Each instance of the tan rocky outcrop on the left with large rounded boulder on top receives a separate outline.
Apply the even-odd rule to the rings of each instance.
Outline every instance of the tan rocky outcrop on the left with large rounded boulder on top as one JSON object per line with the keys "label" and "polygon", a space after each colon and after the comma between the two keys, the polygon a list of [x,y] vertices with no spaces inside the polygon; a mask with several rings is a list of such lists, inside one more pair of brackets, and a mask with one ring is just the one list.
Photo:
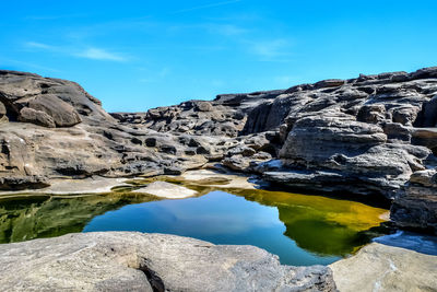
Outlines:
{"label": "tan rocky outcrop on the left with large rounded boulder on top", "polygon": [[[76,83],[0,71],[0,189],[42,188],[82,178],[180,174],[223,155],[222,138],[126,127]],[[203,108],[204,110],[205,108]]]}

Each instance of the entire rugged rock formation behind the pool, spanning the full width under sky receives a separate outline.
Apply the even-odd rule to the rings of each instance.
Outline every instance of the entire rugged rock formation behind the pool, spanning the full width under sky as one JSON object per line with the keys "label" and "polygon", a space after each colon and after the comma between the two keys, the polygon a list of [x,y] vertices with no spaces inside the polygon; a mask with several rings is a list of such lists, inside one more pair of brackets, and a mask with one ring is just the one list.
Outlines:
{"label": "entire rugged rock formation behind the pool, spanning the full width under sky", "polygon": [[437,67],[111,115],[76,83],[0,71],[0,103],[1,189],[210,162],[291,189],[380,196],[399,225],[437,232]]}

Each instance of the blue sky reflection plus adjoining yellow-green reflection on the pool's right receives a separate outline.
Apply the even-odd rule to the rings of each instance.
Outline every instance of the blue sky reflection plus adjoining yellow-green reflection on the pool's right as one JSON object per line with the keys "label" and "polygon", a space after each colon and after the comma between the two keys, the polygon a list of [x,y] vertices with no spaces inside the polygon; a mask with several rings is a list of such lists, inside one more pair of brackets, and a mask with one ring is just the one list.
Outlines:
{"label": "blue sky reflection plus adjoining yellow-green reflection on the pool's right", "polygon": [[170,233],[215,244],[250,244],[290,265],[330,264],[368,238],[383,209],[265,190],[212,191],[200,198],[127,206],[94,218],[88,231]]}

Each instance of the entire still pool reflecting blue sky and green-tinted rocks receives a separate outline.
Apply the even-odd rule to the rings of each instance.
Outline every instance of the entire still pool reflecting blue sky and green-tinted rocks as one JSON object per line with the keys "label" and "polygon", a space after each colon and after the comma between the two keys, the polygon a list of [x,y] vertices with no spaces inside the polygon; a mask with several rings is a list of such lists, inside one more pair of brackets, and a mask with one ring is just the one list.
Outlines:
{"label": "entire still pool reflecting blue sky and green-tinted rocks", "polygon": [[256,245],[279,255],[283,264],[327,265],[367,243],[363,234],[387,212],[359,202],[267,190],[153,200],[129,192],[1,200],[0,241],[81,231],[160,232]]}

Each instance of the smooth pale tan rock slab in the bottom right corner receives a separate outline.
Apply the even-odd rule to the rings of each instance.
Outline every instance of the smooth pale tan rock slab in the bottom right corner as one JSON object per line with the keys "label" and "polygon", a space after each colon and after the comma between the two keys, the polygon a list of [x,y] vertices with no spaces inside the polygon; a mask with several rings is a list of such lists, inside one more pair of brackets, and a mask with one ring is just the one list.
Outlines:
{"label": "smooth pale tan rock slab in the bottom right corner", "polygon": [[437,256],[373,243],[330,267],[340,291],[435,291]]}

